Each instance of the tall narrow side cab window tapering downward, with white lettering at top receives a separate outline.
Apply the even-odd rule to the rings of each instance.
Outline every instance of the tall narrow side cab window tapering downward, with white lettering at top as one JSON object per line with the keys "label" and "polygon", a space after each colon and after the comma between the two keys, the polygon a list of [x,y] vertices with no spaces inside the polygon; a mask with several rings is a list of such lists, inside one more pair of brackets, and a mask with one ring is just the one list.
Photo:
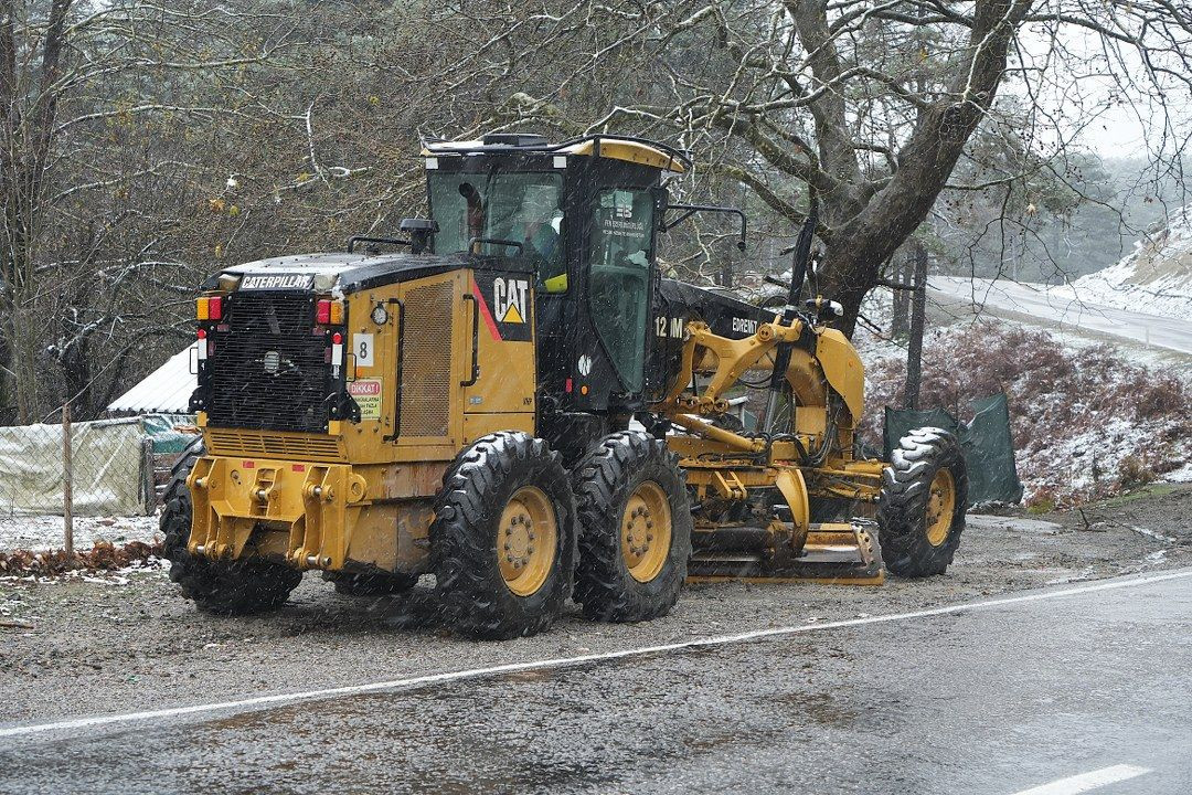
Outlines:
{"label": "tall narrow side cab window tapering downward, with white lettering at top", "polygon": [[613,188],[591,218],[589,308],[596,331],[631,392],[641,390],[654,204],[650,191]]}

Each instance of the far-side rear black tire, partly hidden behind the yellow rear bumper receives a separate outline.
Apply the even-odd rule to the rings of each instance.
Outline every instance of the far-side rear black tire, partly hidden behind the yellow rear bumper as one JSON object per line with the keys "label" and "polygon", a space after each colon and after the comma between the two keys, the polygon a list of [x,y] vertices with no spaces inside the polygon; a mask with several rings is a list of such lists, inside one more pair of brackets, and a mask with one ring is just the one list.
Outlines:
{"label": "far-side rear black tire, partly hidden behind the yellow rear bumper", "polygon": [[186,549],[191,536],[191,490],[186,478],[205,453],[203,439],[191,442],[170,472],[161,514],[169,578],[204,613],[246,615],[281,607],[302,582],[302,572],[255,558],[216,561]]}

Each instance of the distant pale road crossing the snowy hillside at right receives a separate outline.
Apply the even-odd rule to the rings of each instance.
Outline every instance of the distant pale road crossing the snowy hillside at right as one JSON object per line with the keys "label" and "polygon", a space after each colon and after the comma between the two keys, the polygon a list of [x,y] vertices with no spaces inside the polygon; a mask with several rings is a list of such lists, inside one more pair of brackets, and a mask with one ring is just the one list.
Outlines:
{"label": "distant pale road crossing the snowy hillside at right", "polygon": [[1048,325],[1074,327],[1192,354],[1192,322],[1053,296],[1042,285],[1005,279],[931,277],[930,291],[948,306],[962,303],[992,315],[1032,317]]}

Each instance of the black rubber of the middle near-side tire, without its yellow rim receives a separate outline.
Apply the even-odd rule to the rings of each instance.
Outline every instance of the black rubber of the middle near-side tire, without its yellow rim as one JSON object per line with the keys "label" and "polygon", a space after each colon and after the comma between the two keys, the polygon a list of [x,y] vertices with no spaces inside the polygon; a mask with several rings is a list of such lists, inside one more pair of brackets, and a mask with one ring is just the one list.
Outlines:
{"label": "black rubber of the middle near-side tire, without its yellow rim", "polygon": [[[635,579],[622,552],[622,521],[629,498],[653,482],[670,503],[671,544],[648,582]],[[691,504],[687,477],[666,442],[627,430],[601,440],[572,471],[579,515],[579,566],[575,598],[589,619],[647,621],[678,601],[691,557]]]}

